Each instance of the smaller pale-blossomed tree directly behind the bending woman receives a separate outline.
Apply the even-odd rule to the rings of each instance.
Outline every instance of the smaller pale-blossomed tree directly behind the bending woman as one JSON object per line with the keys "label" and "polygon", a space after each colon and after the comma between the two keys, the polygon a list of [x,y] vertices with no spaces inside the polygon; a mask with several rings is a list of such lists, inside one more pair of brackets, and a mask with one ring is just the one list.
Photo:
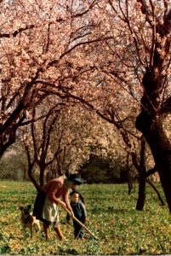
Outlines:
{"label": "smaller pale-blossomed tree directly behind the bending woman", "polygon": [[[30,111],[31,124],[19,129],[26,148],[28,176],[37,189],[43,186],[47,171],[48,177],[76,172],[88,161],[91,148],[97,143],[103,148],[95,150],[98,155],[105,157],[110,152],[114,160],[122,154],[117,138],[112,140],[116,135],[112,125],[78,104],[56,102],[54,96],[48,97],[42,102],[43,108]],[[44,117],[34,122],[40,112]]]}

